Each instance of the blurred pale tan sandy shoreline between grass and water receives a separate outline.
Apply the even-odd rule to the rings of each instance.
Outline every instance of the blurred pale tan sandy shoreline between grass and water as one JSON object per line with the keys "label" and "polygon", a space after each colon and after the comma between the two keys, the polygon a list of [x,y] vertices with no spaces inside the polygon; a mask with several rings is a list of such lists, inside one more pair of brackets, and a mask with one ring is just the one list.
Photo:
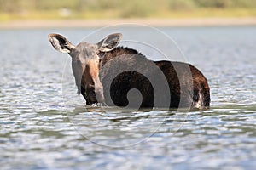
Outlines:
{"label": "blurred pale tan sandy shoreline between grass and water", "polygon": [[90,28],[119,24],[140,24],[156,27],[172,26],[253,26],[256,17],[190,18],[190,19],[111,19],[111,20],[13,20],[0,22],[0,29]]}

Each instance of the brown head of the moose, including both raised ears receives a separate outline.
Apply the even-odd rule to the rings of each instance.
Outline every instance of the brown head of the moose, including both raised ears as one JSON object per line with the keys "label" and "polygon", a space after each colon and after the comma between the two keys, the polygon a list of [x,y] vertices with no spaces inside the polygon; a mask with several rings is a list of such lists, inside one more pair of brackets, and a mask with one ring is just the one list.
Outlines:
{"label": "brown head of the moose, including both raised ears", "polygon": [[80,42],[74,46],[66,37],[60,34],[49,34],[49,42],[61,53],[67,53],[72,58],[72,69],[78,94],[84,96],[86,104],[104,102],[103,87],[100,81],[100,52],[112,51],[119,44],[122,34],[114,33],[96,44]]}

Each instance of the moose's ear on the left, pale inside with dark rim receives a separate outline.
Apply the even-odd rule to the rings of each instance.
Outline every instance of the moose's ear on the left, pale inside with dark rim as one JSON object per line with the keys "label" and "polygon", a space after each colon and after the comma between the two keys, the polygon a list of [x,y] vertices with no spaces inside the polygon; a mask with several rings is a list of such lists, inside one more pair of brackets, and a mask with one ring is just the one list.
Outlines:
{"label": "moose's ear on the left, pale inside with dark rim", "polygon": [[48,38],[51,45],[61,53],[70,53],[71,50],[75,48],[66,37],[63,37],[60,34],[49,34]]}

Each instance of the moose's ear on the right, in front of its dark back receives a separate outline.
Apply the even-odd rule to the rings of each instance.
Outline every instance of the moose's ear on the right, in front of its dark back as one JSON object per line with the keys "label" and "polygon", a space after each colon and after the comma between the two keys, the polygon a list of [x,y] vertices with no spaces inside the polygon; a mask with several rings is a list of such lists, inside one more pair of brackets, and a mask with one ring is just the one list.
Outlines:
{"label": "moose's ear on the right, in front of its dark back", "polygon": [[121,38],[122,38],[122,34],[120,34],[120,33],[110,34],[107,37],[105,37],[104,39],[102,39],[101,42],[98,42],[97,46],[100,51],[108,52],[108,51],[113,50],[113,48],[117,47]]}

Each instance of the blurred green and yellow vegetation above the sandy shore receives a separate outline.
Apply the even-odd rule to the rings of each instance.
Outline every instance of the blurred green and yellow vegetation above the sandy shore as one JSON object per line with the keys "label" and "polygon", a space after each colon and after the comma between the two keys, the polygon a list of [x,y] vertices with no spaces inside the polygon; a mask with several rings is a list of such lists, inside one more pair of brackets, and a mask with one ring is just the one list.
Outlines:
{"label": "blurred green and yellow vegetation above the sandy shore", "polygon": [[0,20],[256,16],[256,0],[0,0]]}

